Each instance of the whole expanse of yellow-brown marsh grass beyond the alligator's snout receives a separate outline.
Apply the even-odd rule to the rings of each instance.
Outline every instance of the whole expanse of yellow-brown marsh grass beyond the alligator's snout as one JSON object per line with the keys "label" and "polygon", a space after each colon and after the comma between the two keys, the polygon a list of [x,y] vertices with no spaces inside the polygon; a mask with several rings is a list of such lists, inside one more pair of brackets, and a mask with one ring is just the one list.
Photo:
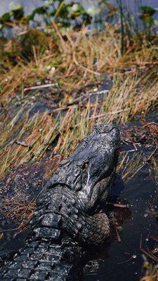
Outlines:
{"label": "whole expanse of yellow-brown marsh grass beyond the alligator's snout", "polygon": [[[122,56],[118,27],[107,24],[103,32],[88,34],[85,27],[79,32],[61,33],[55,22],[52,25],[54,32],[45,38],[34,30],[34,36],[37,32],[44,46],[29,40],[29,59],[20,55],[20,40],[8,41],[1,48],[1,65],[5,65],[0,78],[1,177],[11,167],[34,162],[47,154],[67,157],[96,123],[125,123],[157,107],[157,46],[146,42],[140,48],[135,44]],[[12,51],[14,63],[8,56]],[[107,74],[113,84],[102,102],[74,103],[72,92],[98,84]],[[45,110],[32,115],[31,100],[42,100],[43,93],[40,86],[35,92],[27,89],[37,81],[45,84],[45,79],[58,84],[58,89],[51,87],[50,91],[62,93],[60,103],[56,114]],[[14,102],[17,96],[18,106]],[[13,107],[13,115],[8,115]],[[65,114],[62,108],[67,108]]]}

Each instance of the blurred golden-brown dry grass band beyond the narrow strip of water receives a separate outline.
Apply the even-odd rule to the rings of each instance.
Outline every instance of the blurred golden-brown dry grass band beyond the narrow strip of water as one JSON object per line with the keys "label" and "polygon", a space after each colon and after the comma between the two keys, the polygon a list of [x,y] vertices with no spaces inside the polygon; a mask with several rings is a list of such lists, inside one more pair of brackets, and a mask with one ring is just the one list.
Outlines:
{"label": "blurred golden-brown dry grass band beyond the narrow strip of water", "polygon": [[[30,48],[34,58],[30,62],[17,55],[15,67],[10,66],[9,71],[1,75],[1,102],[8,103],[18,90],[40,79],[59,82],[61,90],[72,91],[96,81],[100,74],[118,75],[130,70],[136,77],[136,67],[144,74],[150,66],[153,68],[158,63],[156,46],[143,46],[137,51],[136,45],[135,52],[129,49],[122,57],[120,35],[114,27],[108,26],[100,34],[86,34],[84,28],[80,32],[60,34],[58,27],[55,28],[56,32],[47,39],[46,48],[39,49],[32,42]],[[11,52],[15,43],[6,44],[5,48]],[[55,67],[55,72],[52,67]]]}

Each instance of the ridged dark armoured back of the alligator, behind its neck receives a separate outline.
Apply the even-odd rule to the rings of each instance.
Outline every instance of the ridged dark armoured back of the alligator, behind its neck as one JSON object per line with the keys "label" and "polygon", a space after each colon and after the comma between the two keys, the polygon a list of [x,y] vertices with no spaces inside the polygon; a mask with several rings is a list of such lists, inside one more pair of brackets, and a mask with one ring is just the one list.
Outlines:
{"label": "ridged dark armoured back of the alligator, behind its neck", "polygon": [[79,263],[77,268],[76,265],[82,251],[81,247],[62,232],[62,216],[55,213],[60,200],[57,191],[59,192],[55,188],[51,210],[44,209],[42,205],[41,214],[37,204],[37,213],[29,223],[32,235],[27,240],[26,247],[15,254],[2,276],[0,273],[1,280],[79,280],[81,270],[77,270]]}

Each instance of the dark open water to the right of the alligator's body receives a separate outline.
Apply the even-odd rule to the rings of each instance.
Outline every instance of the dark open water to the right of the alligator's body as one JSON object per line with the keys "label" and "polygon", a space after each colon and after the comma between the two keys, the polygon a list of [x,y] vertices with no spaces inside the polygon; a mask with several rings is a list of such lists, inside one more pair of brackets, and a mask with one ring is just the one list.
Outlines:
{"label": "dark open water to the right of the alligator's body", "polygon": [[[117,189],[117,185],[115,186]],[[127,219],[120,234],[121,242],[115,240],[106,253],[105,260],[92,264],[84,281],[105,280],[140,280],[143,266],[143,256],[140,251],[142,236],[143,249],[154,249],[152,235],[157,235],[158,223],[147,210],[158,209],[157,185],[143,169],[133,181],[124,184],[121,196],[129,202],[131,218]],[[126,216],[126,214],[122,214]]]}

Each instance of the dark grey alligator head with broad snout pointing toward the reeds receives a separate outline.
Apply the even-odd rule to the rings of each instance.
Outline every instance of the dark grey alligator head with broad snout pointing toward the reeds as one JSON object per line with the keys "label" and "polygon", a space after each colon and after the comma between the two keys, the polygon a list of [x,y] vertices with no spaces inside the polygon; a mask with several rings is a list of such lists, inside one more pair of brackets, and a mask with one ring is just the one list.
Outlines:
{"label": "dark grey alligator head with broad snout pointing toward the reeds", "polygon": [[119,129],[100,124],[84,138],[72,155],[60,163],[53,183],[66,184],[77,192],[83,209],[105,202],[117,166]]}

